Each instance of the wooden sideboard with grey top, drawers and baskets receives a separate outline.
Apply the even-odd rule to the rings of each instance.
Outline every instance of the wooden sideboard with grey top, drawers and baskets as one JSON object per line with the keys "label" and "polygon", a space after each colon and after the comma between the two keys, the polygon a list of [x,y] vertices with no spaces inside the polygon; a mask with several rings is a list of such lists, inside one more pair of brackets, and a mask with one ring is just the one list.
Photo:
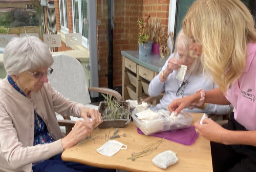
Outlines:
{"label": "wooden sideboard with grey top, drawers and baskets", "polygon": [[[123,55],[122,97],[142,101],[148,97],[148,85],[157,75],[169,56],[139,56],[139,51],[121,51]],[[157,104],[157,100],[152,102]]]}

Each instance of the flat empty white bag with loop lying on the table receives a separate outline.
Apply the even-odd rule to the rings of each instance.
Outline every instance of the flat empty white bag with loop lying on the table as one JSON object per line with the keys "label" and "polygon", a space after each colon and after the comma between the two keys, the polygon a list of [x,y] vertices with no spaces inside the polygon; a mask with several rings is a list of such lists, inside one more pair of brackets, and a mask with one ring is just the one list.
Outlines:
{"label": "flat empty white bag with loop lying on the table", "polygon": [[[122,148],[123,146],[125,146],[125,148]],[[98,148],[97,152],[99,152],[101,155],[112,157],[120,149],[127,149],[127,145],[116,140],[109,140],[105,142],[100,148]]]}

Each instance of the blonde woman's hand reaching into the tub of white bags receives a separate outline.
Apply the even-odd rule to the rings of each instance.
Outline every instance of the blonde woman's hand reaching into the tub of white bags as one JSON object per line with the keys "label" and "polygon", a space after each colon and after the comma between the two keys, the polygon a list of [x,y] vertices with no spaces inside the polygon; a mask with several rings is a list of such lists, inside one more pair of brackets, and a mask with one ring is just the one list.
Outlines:
{"label": "blonde woman's hand reaching into the tub of white bags", "polygon": [[[198,98],[199,96],[199,98]],[[197,100],[198,99],[198,100]],[[199,102],[200,93],[192,94],[187,97],[182,97],[179,99],[175,99],[168,105],[168,109],[170,112],[175,111],[174,115],[177,116],[178,113],[181,112],[182,109],[193,105],[193,103]]]}

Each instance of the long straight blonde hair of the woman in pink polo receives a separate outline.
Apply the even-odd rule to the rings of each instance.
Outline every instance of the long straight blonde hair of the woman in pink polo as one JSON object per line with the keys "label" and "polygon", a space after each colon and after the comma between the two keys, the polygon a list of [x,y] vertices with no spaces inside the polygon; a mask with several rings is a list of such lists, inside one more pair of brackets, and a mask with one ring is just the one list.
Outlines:
{"label": "long straight blonde hair of the woman in pink polo", "polygon": [[197,0],[183,20],[184,34],[202,44],[201,60],[223,93],[244,71],[254,20],[240,0]]}

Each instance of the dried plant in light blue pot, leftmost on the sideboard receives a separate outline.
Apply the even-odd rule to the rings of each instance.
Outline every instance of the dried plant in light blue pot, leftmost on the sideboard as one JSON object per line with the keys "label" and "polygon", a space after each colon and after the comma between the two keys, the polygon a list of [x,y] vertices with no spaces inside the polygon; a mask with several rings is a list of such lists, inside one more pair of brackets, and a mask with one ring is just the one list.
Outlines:
{"label": "dried plant in light blue pot, leftmost on the sideboard", "polygon": [[153,44],[151,36],[152,29],[150,24],[150,15],[144,21],[142,17],[139,16],[137,25],[139,27],[139,55],[148,56],[151,54]]}

